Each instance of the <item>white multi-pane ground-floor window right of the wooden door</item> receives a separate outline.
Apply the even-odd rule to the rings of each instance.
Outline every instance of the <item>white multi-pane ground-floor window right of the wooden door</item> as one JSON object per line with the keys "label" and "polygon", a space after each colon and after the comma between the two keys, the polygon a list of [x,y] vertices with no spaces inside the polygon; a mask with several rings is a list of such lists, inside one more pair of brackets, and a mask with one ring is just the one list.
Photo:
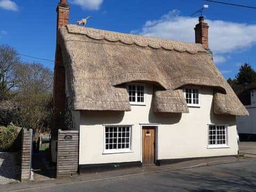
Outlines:
{"label": "white multi-pane ground-floor window right of the wooden door", "polygon": [[225,125],[209,125],[208,145],[227,145],[227,128]]}

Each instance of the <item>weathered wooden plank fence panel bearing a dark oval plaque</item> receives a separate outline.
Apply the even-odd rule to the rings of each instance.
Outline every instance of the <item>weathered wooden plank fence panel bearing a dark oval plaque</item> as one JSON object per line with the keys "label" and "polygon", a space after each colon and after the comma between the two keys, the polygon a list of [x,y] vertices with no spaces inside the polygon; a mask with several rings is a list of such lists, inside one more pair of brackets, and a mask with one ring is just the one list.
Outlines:
{"label": "weathered wooden plank fence panel bearing a dark oval plaque", "polygon": [[59,130],[57,143],[57,178],[77,174],[78,140],[78,131]]}

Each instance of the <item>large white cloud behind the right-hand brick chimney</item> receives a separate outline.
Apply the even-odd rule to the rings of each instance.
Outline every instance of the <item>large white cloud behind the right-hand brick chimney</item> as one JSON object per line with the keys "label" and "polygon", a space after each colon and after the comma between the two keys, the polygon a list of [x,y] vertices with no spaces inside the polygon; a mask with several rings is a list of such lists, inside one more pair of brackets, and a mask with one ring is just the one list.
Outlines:
{"label": "large white cloud behind the right-hand brick chimney", "polygon": [[[206,22],[210,26],[209,46],[217,54],[216,62],[228,59],[220,54],[244,51],[256,44],[256,25],[207,19]],[[147,21],[138,34],[194,42],[197,23],[197,18],[183,17],[173,10],[158,20]]]}

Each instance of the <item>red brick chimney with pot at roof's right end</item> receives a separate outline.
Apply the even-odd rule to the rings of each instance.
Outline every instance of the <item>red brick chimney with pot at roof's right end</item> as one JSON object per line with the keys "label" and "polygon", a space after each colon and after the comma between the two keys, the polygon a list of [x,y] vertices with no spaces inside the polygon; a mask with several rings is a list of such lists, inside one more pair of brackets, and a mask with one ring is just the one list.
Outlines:
{"label": "red brick chimney with pot at roof's right end", "polygon": [[196,25],[195,29],[195,37],[196,43],[201,43],[204,49],[209,50],[209,42],[208,42],[208,29],[209,26],[206,22],[204,22],[204,17],[199,17],[199,23]]}

